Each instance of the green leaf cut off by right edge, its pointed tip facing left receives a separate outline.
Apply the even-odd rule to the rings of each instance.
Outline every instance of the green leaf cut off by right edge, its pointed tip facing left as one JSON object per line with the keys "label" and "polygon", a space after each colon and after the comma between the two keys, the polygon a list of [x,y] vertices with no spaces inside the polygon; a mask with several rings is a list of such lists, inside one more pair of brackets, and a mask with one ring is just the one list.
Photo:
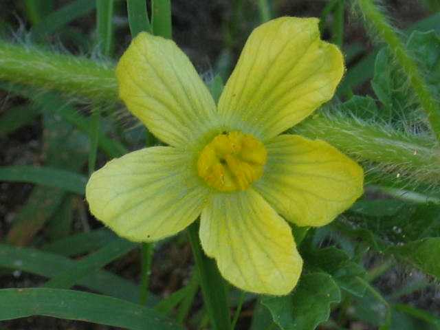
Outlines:
{"label": "green leaf cut off by right edge, its pointed tip facing left", "polygon": [[440,278],[440,237],[430,237],[395,246],[389,252],[410,265]]}

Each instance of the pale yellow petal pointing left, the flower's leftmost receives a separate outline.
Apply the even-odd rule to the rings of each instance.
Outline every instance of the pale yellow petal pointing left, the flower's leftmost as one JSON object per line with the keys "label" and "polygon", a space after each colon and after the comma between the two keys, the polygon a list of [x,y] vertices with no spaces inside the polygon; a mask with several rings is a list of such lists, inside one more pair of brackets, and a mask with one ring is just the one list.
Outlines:
{"label": "pale yellow petal pointing left, the flower's leftmost", "polygon": [[190,157],[169,146],[128,153],[91,175],[91,213],[131,241],[157,241],[186,228],[200,214],[206,192]]}

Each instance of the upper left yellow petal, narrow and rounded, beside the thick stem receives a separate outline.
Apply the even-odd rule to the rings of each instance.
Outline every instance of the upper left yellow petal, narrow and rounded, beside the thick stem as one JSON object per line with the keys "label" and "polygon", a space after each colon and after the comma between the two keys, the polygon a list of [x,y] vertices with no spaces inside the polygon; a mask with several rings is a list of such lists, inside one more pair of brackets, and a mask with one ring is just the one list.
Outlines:
{"label": "upper left yellow petal, narrow and rounded, beside the thick stem", "polygon": [[193,146],[217,120],[210,92],[173,41],[138,34],[116,76],[129,111],[171,146]]}

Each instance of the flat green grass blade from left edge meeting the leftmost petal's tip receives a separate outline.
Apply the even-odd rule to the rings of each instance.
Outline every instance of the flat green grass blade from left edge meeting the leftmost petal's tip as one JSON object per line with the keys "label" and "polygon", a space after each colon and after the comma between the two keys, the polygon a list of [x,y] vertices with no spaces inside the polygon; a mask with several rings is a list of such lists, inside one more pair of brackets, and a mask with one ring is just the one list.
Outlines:
{"label": "flat green grass blade from left edge meeting the leftmost petal's tip", "polygon": [[84,195],[87,177],[59,168],[44,166],[0,167],[0,181],[21,181]]}

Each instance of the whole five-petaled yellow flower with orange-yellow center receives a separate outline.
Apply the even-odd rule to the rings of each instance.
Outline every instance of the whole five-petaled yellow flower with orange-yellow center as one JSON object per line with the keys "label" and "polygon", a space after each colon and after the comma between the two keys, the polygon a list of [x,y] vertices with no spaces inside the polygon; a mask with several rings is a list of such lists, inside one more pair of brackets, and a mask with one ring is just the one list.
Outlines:
{"label": "whole five-petaled yellow flower with orange-yellow center", "polygon": [[252,32],[216,106],[173,41],[139,34],[116,69],[120,97],[169,146],[96,171],[86,189],[91,212],[146,242],[200,216],[202,248],[225,279],[288,294],[303,261],[285,220],[325,225],[362,194],[353,160],[321,140],[283,134],[331,99],[343,72],[318,19],[274,19]]}

